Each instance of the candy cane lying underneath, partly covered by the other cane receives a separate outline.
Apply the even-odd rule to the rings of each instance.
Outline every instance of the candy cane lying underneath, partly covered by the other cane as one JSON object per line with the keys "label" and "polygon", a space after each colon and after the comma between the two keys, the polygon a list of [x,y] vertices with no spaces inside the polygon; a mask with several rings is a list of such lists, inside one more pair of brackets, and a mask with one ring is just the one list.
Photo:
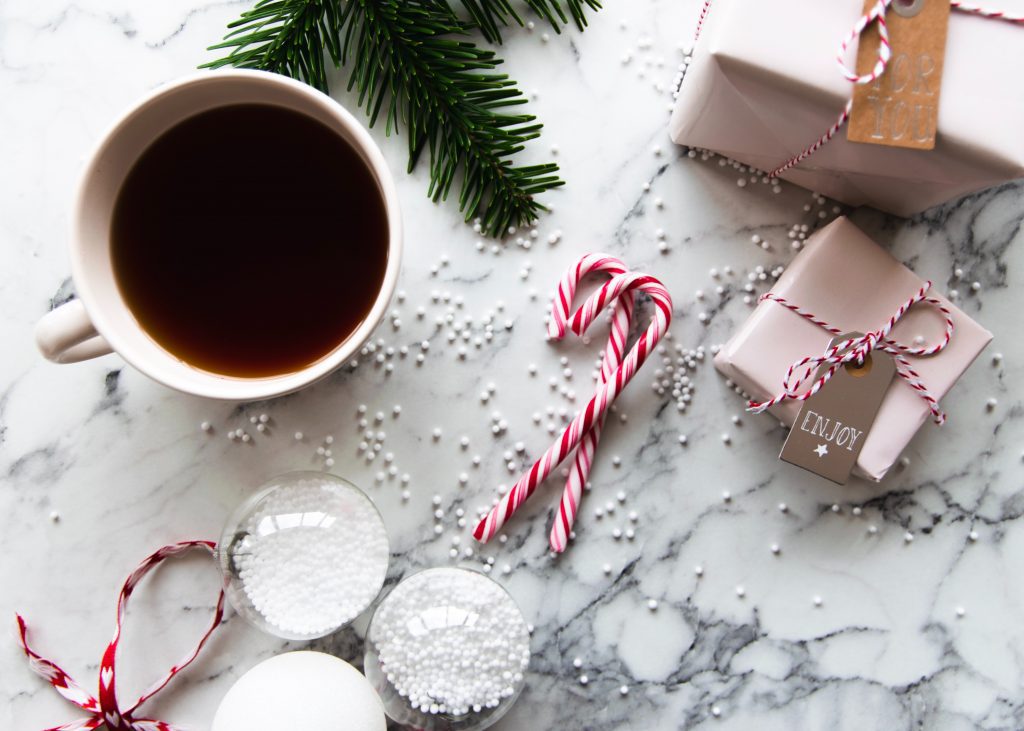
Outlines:
{"label": "candy cane lying underneath, partly covered by the other cane", "polygon": [[[594,271],[622,274],[626,270],[626,264],[621,259],[607,254],[587,254],[574,266],[569,267],[562,281],[558,283],[558,292],[555,294],[551,317],[548,320],[548,337],[559,340],[565,335],[572,297],[581,280]],[[612,305],[611,330],[604,348],[599,384],[608,380],[610,374],[618,368],[623,353],[626,352],[626,338],[629,336],[630,322],[633,318],[633,293],[629,293],[615,300]],[[583,499],[583,488],[590,475],[594,453],[601,439],[601,429],[604,427],[606,416],[602,414],[598,418],[593,428],[584,435],[577,449],[575,460],[565,481],[565,489],[562,490],[562,501],[555,515],[555,522],[551,526],[551,550],[556,553],[561,553],[568,545],[569,532],[572,530],[580,501]]]}

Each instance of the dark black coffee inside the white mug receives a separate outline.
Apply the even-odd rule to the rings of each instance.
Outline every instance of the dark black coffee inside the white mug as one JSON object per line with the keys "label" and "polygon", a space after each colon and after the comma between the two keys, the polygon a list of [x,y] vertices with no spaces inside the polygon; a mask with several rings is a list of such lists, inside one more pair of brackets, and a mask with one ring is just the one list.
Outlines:
{"label": "dark black coffee inside the white mug", "polygon": [[158,137],[118,193],[114,274],[160,346],[237,378],[301,371],[366,319],[388,258],[377,181],[298,112],[234,104]]}

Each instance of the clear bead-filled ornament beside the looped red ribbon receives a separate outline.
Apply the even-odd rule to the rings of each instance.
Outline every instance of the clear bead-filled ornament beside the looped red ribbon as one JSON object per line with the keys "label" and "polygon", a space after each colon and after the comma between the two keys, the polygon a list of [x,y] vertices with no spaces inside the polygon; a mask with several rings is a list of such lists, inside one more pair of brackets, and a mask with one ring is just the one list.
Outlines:
{"label": "clear bead-filled ornament beside the looped red ribbon", "polygon": [[377,598],[389,548],[380,513],[358,487],[292,472],[239,507],[218,557],[239,614],[278,637],[309,640],[349,624]]}

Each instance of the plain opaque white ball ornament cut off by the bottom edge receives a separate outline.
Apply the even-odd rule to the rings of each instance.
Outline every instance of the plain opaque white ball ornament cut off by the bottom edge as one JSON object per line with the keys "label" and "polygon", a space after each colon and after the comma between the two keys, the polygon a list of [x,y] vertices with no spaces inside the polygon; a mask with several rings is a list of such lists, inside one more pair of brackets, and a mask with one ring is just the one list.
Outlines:
{"label": "plain opaque white ball ornament cut off by the bottom edge", "polygon": [[242,676],[221,700],[211,731],[385,731],[373,687],[344,660],[286,652]]}

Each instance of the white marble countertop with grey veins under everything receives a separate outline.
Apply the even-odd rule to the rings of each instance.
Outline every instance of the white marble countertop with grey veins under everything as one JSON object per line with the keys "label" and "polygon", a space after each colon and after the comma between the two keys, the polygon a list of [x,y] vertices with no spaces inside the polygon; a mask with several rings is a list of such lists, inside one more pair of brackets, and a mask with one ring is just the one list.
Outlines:
{"label": "white marble countertop with grey veins under everything", "polygon": [[[477,236],[454,208],[426,199],[424,171],[402,172],[404,142],[373,131],[396,171],[408,229],[399,285],[406,298],[394,304],[401,327],[385,322],[378,337],[385,348],[429,340],[422,365],[395,354],[390,374],[364,362],[299,394],[239,405],[171,392],[116,356],[67,367],[43,361],[32,329],[73,291],[66,232],[84,155],[134,98],[208,59],[205,46],[247,5],[0,5],[0,616],[25,613],[40,651],[89,687],[117,591],[137,561],[169,542],[216,538],[230,510],[269,476],[323,467],[315,447],[328,434],[335,437],[333,470],[364,485],[384,514],[389,580],[453,563],[452,536],[469,541],[455,509],[488,504],[496,486],[515,476],[504,453],[521,441],[524,455],[516,459],[540,455],[550,440],[545,410],[555,408],[557,420],[558,408],[571,413],[589,390],[597,339],[588,347],[543,338],[547,295],[580,254],[604,250],[663,277],[676,300],[673,342],[710,349],[750,311],[738,290],[743,275],[784,265],[794,225],[813,230],[836,215],[830,203],[818,205],[788,184],[778,192],[760,184],[739,189],[731,168],[674,147],[666,133],[669,87],[697,3],[607,0],[584,34],[546,41],[540,27],[513,31],[502,51],[546,124],[530,155],[555,155],[567,181],[548,198],[555,212],[541,221],[531,250],[513,238],[497,254],[489,243],[478,252]],[[632,60],[624,63],[627,53]],[[343,92],[336,97],[351,104]],[[1017,579],[1024,573],[1024,346],[1014,336],[1021,300],[1013,294],[1024,285],[1024,186],[1005,185],[912,220],[866,210],[852,218],[940,289],[958,288],[961,306],[995,334],[944,400],[949,423],[926,425],[905,464],[882,484],[841,487],[779,463],[783,430],[771,418],[743,415],[710,362],[697,363],[684,413],[652,390],[656,365],[648,367],[620,401],[628,421],[609,421],[568,553],[552,559],[547,551],[560,490],[552,481],[508,526],[507,544],[460,559],[479,566],[494,557],[493,575],[536,626],[527,689],[497,728],[1024,727],[1024,585]],[[771,248],[754,246],[753,234]],[[735,270],[731,278],[711,278],[713,267],[726,265]],[[955,280],[957,267],[966,282]],[[967,283],[975,281],[980,289],[972,293]],[[473,317],[462,358],[446,331],[434,327],[449,306]],[[707,324],[698,321],[701,312]],[[488,314],[494,335],[486,340]],[[577,374],[570,382],[561,375],[563,355]],[[551,378],[577,391],[574,403],[549,387]],[[480,393],[492,383],[484,402]],[[986,407],[989,398],[997,399],[994,408]],[[408,502],[398,479],[377,481],[380,463],[357,453],[360,403],[386,415],[384,451],[410,475]],[[395,404],[398,418],[391,416]],[[490,430],[496,411],[509,425],[498,437]],[[225,438],[262,413],[271,419],[268,435],[253,432],[248,444]],[[200,430],[203,421],[213,434]],[[435,428],[442,430],[437,440]],[[302,441],[293,438],[297,430]],[[596,519],[592,508],[614,502],[620,490],[625,504]],[[434,494],[446,511],[440,536]],[[636,536],[616,541],[612,530],[627,526],[628,511],[639,516]],[[215,570],[199,557],[147,580],[122,648],[124,695],[190,646],[216,590]],[[364,629],[365,620],[312,647],[358,659]],[[208,728],[234,679],[296,646],[232,617],[147,709]],[[76,718],[29,672],[12,640],[0,648],[0,699],[7,729]]]}

